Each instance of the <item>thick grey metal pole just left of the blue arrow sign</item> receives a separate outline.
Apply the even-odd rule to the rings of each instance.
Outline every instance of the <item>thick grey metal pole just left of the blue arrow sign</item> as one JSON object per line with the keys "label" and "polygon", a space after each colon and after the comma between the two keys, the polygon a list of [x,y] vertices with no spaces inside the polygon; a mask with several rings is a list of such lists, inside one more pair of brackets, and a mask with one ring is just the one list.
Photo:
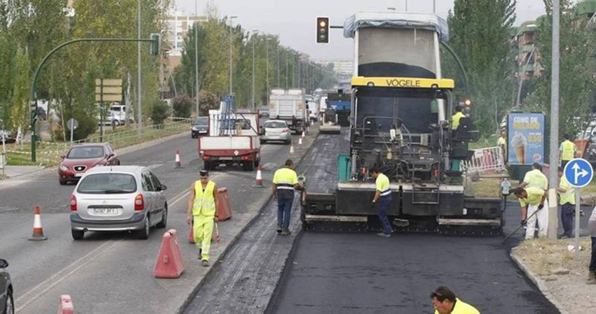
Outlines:
{"label": "thick grey metal pole just left of the blue arrow sign", "polygon": [[552,0],[552,71],[551,71],[551,141],[548,169],[548,238],[557,239],[557,165],[558,156],[558,101],[559,101],[559,20],[560,0]]}

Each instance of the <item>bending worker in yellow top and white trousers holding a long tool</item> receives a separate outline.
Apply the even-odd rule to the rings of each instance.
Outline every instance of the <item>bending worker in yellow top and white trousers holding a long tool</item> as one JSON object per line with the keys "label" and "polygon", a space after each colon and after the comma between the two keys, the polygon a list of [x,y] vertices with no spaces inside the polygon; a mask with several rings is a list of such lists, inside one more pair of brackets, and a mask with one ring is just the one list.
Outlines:
{"label": "bending worker in yellow top and white trousers holding a long tool", "polygon": [[[518,187],[511,190],[511,193],[517,196],[522,208],[527,206],[526,239],[534,238],[536,220],[538,220],[538,235],[547,236],[548,210],[542,210],[544,207],[548,209],[547,191],[538,187]],[[522,220],[522,224],[525,222]]]}

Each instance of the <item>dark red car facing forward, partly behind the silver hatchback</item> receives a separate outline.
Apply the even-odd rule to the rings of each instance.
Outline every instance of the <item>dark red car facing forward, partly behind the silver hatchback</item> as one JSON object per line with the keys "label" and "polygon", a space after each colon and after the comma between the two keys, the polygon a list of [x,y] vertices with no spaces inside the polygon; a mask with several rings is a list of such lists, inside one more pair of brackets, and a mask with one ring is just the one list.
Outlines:
{"label": "dark red car facing forward, partly behind the silver hatchback", "polygon": [[61,185],[78,181],[85,171],[95,166],[120,165],[116,151],[107,143],[77,144],[62,158],[58,166]]}

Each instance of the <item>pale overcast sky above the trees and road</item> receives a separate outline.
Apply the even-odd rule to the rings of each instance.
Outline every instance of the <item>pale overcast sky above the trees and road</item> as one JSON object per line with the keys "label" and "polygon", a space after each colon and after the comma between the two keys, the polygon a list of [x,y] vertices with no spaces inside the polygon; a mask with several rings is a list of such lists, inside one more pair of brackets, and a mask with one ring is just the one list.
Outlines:
{"label": "pale overcast sky above the trees and road", "polygon": [[[207,0],[198,1],[198,15],[203,15]],[[432,13],[433,0],[407,0],[408,11]],[[174,0],[178,11],[192,15],[195,0]],[[406,0],[212,0],[218,6],[220,16],[238,16],[247,30],[280,35],[284,45],[303,51],[311,59],[352,59],[353,41],[344,38],[341,29],[332,29],[330,44],[316,44],[316,16],[330,17],[331,25],[343,25],[343,21],[358,11],[388,11],[395,7],[405,11]],[[453,8],[453,0],[436,0],[437,14],[447,18]],[[516,25],[533,20],[544,14],[542,0],[518,0]]]}

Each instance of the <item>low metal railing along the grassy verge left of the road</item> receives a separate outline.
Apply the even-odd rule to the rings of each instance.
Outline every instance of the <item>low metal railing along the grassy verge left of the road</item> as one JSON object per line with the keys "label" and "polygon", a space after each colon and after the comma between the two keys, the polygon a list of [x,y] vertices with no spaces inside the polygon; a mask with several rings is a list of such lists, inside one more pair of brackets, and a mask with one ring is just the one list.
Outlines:
{"label": "low metal railing along the grassy verge left of the road", "polygon": [[[182,121],[173,121],[159,125],[148,125],[141,128],[141,142],[154,140],[170,136],[173,134],[190,131],[191,124],[194,119],[191,118],[174,118]],[[138,129],[133,128],[126,131],[116,131],[113,133],[104,133],[103,142],[100,141],[101,136],[91,136],[83,138],[82,140],[73,141],[73,145],[82,143],[110,143],[114,149],[130,146],[132,144],[141,143],[137,140]],[[71,144],[68,143],[52,143],[46,141],[38,142],[38,162],[41,164],[52,164],[60,161],[60,157],[66,153]],[[18,147],[18,146],[17,146]],[[28,148],[28,147],[27,147]],[[31,155],[30,150],[7,150],[7,153],[17,153],[23,155]]]}

